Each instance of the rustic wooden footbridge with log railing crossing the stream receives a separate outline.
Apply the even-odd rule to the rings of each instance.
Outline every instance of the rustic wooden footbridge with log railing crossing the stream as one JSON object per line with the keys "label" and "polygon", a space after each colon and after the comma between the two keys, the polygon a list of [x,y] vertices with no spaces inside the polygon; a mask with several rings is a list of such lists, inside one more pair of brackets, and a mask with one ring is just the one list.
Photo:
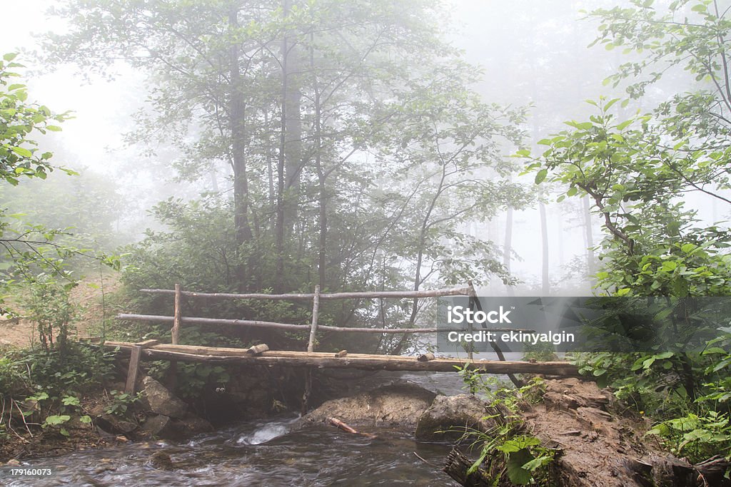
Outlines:
{"label": "rustic wooden footbridge with log railing crossing the stream", "polygon": [[[169,294],[174,296],[173,316],[120,314],[118,320],[143,321],[147,323],[171,323],[172,343],[164,344],[159,340],[144,342],[104,342],[105,348],[114,348],[130,353],[129,373],[126,389],[134,391],[140,360],[169,360],[172,362],[205,362],[217,364],[251,364],[268,367],[305,367],[312,369],[364,369],[364,370],[402,370],[456,372],[458,369],[471,369],[485,374],[518,373],[577,376],[577,367],[566,361],[507,361],[499,349],[496,353],[500,360],[474,360],[471,351],[466,358],[438,358],[432,353],[420,356],[374,355],[366,353],[349,353],[345,350],[338,353],[316,352],[315,342],[318,333],[368,333],[368,334],[423,334],[437,331],[452,331],[444,328],[357,328],[343,326],[318,325],[319,302],[327,299],[382,299],[382,298],[432,298],[438,296],[470,296],[475,297],[471,283],[463,288],[439,289],[434,291],[382,291],[321,294],[319,286],[314,294],[227,294],[197,293],[183,291],[180,285],[174,290],[142,289],[151,294]],[[278,299],[278,300],[312,300],[312,321],[308,325],[292,323],[274,323],[270,321],[232,320],[218,318],[183,317],[182,297],[192,299]],[[308,331],[306,351],[269,350],[267,345],[254,345],[251,348],[220,348],[197,345],[180,345],[180,331],[183,325],[209,324],[246,326],[253,328],[281,329],[287,331]],[[455,329],[454,331],[463,331]],[[506,330],[507,331],[507,330]]]}

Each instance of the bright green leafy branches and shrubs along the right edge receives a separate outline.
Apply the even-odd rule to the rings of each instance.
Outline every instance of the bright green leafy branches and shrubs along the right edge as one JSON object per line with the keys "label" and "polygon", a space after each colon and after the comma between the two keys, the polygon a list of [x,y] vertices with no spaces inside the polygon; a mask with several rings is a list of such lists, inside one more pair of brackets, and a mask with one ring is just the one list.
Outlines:
{"label": "bright green leafy branches and shrubs along the right edge", "polygon": [[[606,229],[599,291],[668,296],[673,306],[666,313],[676,329],[667,336],[682,345],[687,334],[708,328],[694,296],[731,295],[730,232],[717,224],[698,228],[683,201],[684,193],[695,191],[729,203],[721,190],[730,187],[724,38],[731,23],[724,18],[728,10],[719,11],[716,2],[673,1],[667,12],[652,1],[631,3],[590,13],[602,20],[597,42],[641,54],[607,83],[637,77],[628,93],[639,97],[676,66],[710,83],[627,120],[614,115],[617,99],[589,101],[597,108],[589,120],[567,122],[571,129],[540,141],[546,147],[540,156],[528,151],[518,156],[531,159],[527,167],[536,172],[536,183],[564,185],[559,199],[591,199]],[[691,13],[678,21],[687,7]],[[582,373],[611,386],[640,413],[652,412],[659,423],[651,433],[678,455],[696,461],[719,452],[731,456],[730,342],[718,323],[711,324],[713,340],[704,350],[680,353],[673,344],[657,343],[647,353],[582,354],[574,360]]]}

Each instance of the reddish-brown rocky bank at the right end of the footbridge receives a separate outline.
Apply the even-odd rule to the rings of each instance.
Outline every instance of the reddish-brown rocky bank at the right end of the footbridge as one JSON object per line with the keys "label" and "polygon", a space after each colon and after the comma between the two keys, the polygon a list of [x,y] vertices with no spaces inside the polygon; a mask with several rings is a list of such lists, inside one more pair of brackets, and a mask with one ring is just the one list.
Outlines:
{"label": "reddish-brown rocky bank at the right end of the footbridge", "polygon": [[[692,466],[644,436],[647,424],[618,414],[609,391],[575,378],[546,380],[545,401],[523,415],[544,445],[560,448],[551,464],[556,485],[629,487],[694,485]],[[582,434],[566,436],[566,432]],[[719,485],[708,483],[711,485]]]}

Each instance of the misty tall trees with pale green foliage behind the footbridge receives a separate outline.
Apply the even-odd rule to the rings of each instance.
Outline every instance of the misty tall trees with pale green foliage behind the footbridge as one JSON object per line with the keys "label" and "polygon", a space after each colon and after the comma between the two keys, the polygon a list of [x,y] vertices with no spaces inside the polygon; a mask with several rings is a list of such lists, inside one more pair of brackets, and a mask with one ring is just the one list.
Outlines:
{"label": "misty tall trees with pale green foliage behind the footbridge", "polygon": [[[511,280],[499,250],[465,223],[529,200],[500,149],[522,137],[525,111],[471,91],[479,70],[444,41],[439,5],[92,0],[62,1],[55,12],[72,22],[48,37],[50,63],[108,74],[108,61],[124,58],[149,74],[151,110],[140,111],[130,140],[155,144],[164,134],[182,154],[183,180],[232,174],[232,193],[157,205],[164,229],[129,249],[130,287],[311,292]],[[245,47],[274,38],[292,49]],[[322,322],[413,325],[422,310],[359,305],[324,304]],[[273,308],[229,311],[306,321],[300,307]],[[338,340],[320,345],[348,348]],[[404,345],[389,336],[360,346]]]}

